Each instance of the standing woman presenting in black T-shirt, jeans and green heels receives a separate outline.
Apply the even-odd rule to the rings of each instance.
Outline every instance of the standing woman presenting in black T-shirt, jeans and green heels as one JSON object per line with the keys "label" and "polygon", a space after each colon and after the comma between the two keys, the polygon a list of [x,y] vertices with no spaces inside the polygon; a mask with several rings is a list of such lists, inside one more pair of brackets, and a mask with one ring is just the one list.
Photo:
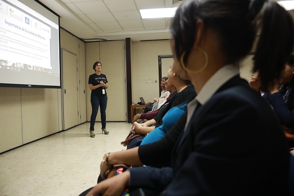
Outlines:
{"label": "standing woman presenting in black T-shirt, jeans and green heels", "polygon": [[102,65],[99,61],[95,62],[93,65],[93,70],[95,73],[89,76],[89,87],[91,92],[91,105],[92,105],[92,115],[90,123],[90,137],[95,138],[94,125],[96,116],[98,113],[98,108],[100,105],[101,114],[101,124],[102,133],[108,135],[109,131],[106,130],[106,106],[107,106],[107,94],[106,89],[108,88],[108,81],[105,74],[101,73]]}

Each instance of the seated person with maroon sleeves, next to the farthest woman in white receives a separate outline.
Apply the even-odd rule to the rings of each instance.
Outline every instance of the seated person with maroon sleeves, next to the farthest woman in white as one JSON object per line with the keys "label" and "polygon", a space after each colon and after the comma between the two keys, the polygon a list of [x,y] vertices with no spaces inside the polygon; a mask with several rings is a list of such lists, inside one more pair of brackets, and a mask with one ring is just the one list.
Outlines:
{"label": "seated person with maroon sleeves, next to the farthest woman in white", "polygon": [[[173,86],[171,83],[168,83],[168,80],[166,81],[166,90],[170,91],[170,95],[169,97],[166,99],[166,101],[164,103],[168,103],[170,101],[170,99],[176,95],[176,88],[175,86]],[[157,114],[158,114],[158,110],[159,108],[157,108],[156,110],[147,112],[147,113],[142,113],[142,114],[136,114],[133,117],[133,122],[136,122],[138,119],[146,119],[146,120],[151,120],[153,119]]]}

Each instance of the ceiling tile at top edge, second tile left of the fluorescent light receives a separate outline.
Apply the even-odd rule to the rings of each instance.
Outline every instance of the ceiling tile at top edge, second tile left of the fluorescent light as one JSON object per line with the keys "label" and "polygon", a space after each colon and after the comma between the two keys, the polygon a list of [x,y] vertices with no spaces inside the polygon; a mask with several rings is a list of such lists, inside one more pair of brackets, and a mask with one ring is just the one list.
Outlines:
{"label": "ceiling tile at top edge, second tile left of the fluorescent light", "polygon": [[88,1],[74,3],[84,14],[109,12],[103,1]]}

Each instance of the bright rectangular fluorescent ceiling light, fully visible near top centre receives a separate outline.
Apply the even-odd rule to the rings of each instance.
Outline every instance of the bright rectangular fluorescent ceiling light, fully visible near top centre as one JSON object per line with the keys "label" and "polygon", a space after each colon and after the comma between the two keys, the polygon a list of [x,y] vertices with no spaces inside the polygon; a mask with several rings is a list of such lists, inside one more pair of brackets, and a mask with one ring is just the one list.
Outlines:
{"label": "bright rectangular fluorescent ceiling light, fully visible near top centre", "polygon": [[142,19],[172,18],[177,7],[159,9],[140,9]]}

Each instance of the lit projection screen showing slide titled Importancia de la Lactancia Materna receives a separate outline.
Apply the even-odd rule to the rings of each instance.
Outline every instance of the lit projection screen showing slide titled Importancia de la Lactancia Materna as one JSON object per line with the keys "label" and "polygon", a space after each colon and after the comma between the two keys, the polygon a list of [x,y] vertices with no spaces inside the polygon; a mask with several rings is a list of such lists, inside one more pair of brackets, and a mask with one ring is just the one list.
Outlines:
{"label": "lit projection screen showing slide titled Importancia de la Lactancia Materna", "polygon": [[60,87],[59,56],[58,23],[17,0],[0,0],[1,84]]}

